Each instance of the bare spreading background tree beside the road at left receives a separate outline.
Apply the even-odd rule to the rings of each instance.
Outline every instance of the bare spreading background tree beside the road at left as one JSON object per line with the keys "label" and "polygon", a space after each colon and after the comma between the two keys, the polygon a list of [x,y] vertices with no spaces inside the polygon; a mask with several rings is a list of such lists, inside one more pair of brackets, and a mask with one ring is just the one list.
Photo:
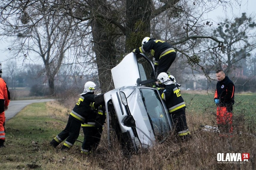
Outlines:
{"label": "bare spreading background tree beside the road at left", "polygon": [[[50,94],[54,94],[54,78],[71,48],[79,45],[80,37],[72,30],[75,24],[69,15],[54,3],[43,1],[4,1],[2,7],[2,35],[16,36],[9,49],[14,49],[15,57],[23,57],[25,62],[33,52],[44,63],[46,80]],[[9,2],[9,3],[8,3]],[[55,2],[55,1],[53,1]],[[56,4],[56,5],[61,5]],[[7,13],[5,11],[8,11]],[[3,19],[3,17],[5,17]],[[75,29],[77,31],[78,29]],[[80,30],[78,30],[80,31]],[[83,49],[83,48],[82,48]],[[71,57],[67,57],[69,59]],[[33,59],[33,60],[39,60]]]}

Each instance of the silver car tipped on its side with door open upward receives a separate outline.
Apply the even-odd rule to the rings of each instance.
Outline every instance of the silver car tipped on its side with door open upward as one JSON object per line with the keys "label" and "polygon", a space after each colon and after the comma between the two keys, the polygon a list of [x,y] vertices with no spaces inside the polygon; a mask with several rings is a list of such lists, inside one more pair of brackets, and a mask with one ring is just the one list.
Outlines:
{"label": "silver car tipped on its side with door open upward", "polygon": [[156,140],[163,142],[172,130],[172,118],[159,91],[152,88],[157,78],[151,60],[130,53],[111,74],[115,89],[104,94],[109,146],[113,130],[129,151],[147,150]]}

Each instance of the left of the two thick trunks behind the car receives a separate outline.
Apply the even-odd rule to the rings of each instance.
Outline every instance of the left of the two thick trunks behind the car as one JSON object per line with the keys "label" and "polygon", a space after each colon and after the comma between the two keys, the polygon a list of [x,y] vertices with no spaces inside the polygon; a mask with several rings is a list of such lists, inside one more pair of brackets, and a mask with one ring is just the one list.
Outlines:
{"label": "left of the two thick trunks behind the car", "polygon": [[[107,14],[104,11],[105,2],[105,0],[92,1],[91,4],[93,4],[93,14]],[[111,76],[111,69],[115,66],[115,48],[111,33],[116,28],[114,28],[113,25],[108,24],[109,23],[107,21],[99,18],[94,18],[91,22],[93,34],[93,50],[96,54],[96,64],[98,67],[99,83],[102,93],[114,88]]]}

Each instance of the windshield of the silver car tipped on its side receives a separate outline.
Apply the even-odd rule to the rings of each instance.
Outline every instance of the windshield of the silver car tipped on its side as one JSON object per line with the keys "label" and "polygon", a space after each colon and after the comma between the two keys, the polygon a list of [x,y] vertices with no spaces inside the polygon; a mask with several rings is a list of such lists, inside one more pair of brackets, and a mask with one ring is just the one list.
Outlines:
{"label": "windshield of the silver car tipped on its side", "polygon": [[170,127],[159,94],[156,89],[147,88],[141,88],[140,92],[154,135],[162,141],[169,134]]}

